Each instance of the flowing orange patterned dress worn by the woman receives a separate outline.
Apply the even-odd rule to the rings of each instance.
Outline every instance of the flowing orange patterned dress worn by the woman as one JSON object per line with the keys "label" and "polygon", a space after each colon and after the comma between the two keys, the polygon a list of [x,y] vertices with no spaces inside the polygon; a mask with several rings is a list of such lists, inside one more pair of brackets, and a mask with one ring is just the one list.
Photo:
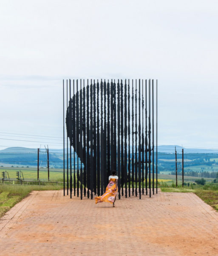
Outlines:
{"label": "flowing orange patterned dress worn by the woman", "polygon": [[113,204],[113,202],[115,201],[117,190],[118,189],[116,189],[116,179],[111,178],[106,188],[105,194],[97,196],[95,198],[95,203],[97,204],[101,202],[108,202],[110,204]]}

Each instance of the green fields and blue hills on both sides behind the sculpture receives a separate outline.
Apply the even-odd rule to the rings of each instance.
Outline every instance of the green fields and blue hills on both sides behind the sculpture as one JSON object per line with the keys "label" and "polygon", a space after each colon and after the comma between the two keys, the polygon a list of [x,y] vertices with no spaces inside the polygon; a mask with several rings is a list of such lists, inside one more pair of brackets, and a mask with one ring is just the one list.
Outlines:
{"label": "green fields and blue hills on both sides behind the sculpture", "polygon": [[[167,153],[163,151],[167,151]],[[52,151],[48,183],[48,169],[44,153],[41,152],[40,155],[39,180],[37,180],[36,149],[6,148],[0,151],[0,172],[2,175],[0,180],[0,216],[4,215],[8,209],[26,197],[32,190],[62,189],[62,161],[61,152]],[[193,153],[191,150],[187,150],[187,153],[184,154],[184,187],[182,187],[181,162],[181,153],[178,153],[178,186],[176,187],[176,160],[173,148],[170,146],[160,148],[158,153],[158,187],[163,192],[193,192],[218,210],[218,153],[202,153],[201,150],[200,152],[195,150]],[[154,166],[154,171],[156,171],[156,163]],[[75,167],[77,169],[77,159]],[[3,179],[3,172],[6,175],[5,179]],[[19,172],[19,179],[17,172]],[[74,169],[72,169],[72,173],[74,173]],[[68,174],[70,178],[69,167]],[[156,173],[154,175],[156,177]],[[67,163],[65,163],[66,181]]]}

